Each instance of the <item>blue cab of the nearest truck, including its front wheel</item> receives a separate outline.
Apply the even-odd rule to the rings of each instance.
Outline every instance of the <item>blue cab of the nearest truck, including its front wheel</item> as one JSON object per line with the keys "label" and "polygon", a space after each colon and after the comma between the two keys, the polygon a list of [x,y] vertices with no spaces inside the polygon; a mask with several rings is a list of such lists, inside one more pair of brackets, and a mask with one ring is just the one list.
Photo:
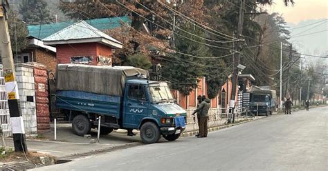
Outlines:
{"label": "blue cab of the nearest truck, including its front wheel", "polygon": [[173,141],[185,129],[187,114],[165,82],[128,80],[123,101],[122,128],[140,130],[143,141],[158,141],[158,133]]}

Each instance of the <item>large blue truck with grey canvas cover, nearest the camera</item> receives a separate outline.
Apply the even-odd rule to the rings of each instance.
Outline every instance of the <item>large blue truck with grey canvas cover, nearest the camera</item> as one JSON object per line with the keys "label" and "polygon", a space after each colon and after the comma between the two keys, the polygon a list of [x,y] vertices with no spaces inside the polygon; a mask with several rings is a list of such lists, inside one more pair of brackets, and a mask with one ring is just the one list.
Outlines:
{"label": "large blue truck with grey canvas cover, nearest the camera", "polygon": [[56,108],[69,116],[73,132],[80,136],[98,128],[140,130],[143,143],[161,137],[178,139],[187,114],[167,83],[150,81],[147,71],[124,66],[60,64],[56,72]]}

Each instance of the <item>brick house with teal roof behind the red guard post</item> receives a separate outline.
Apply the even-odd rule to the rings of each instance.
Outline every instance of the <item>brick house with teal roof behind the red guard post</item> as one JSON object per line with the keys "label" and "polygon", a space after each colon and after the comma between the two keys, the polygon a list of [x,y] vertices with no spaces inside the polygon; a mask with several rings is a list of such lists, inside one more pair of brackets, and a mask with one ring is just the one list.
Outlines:
{"label": "brick house with teal roof behind the red guard post", "polygon": [[[129,17],[111,17],[103,19],[91,19],[86,20],[90,26],[104,31],[111,30],[114,28],[120,28],[123,23],[131,25],[131,19]],[[30,25],[28,26],[28,46],[26,49],[19,52],[17,55],[14,54],[15,63],[28,63],[37,62],[43,63],[48,70],[55,71],[57,65],[56,53],[57,48],[54,46],[45,45],[42,39],[71,26],[75,22],[59,22],[49,23],[41,25]]]}

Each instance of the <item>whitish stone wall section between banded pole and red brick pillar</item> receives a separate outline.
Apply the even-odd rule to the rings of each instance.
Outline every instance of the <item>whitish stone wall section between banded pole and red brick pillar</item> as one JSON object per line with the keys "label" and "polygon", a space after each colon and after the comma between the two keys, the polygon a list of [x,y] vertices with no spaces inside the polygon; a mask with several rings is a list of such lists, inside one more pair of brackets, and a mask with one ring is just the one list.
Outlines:
{"label": "whitish stone wall section between banded pole and red brick pillar", "polygon": [[33,66],[16,64],[16,77],[19,90],[19,105],[24,120],[26,137],[37,136],[37,116],[35,104],[35,81]]}

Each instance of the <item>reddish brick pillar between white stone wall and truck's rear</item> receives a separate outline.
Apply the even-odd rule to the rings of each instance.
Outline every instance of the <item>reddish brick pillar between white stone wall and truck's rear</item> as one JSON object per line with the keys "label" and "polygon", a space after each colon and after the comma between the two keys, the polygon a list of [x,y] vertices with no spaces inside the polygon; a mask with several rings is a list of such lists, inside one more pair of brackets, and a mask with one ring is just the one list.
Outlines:
{"label": "reddish brick pillar between white stone wall and truck's rear", "polygon": [[37,130],[50,130],[50,112],[48,105],[48,74],[44,66],[34,67],[35,99],[37,102]]}

